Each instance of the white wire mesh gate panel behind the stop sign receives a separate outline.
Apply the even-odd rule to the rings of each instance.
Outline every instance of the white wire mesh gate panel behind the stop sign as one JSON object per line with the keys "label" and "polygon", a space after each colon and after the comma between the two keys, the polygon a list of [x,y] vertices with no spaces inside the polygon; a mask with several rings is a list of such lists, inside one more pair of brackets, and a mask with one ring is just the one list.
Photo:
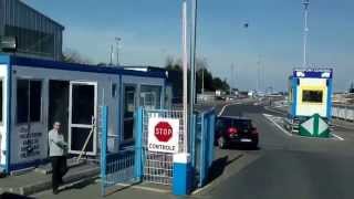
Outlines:
{"label": "white wire mesh gate panel behind the stop sign", "polygon": [[178,153],[184,153],[184,119],[183,111],[166,109],[143,109],[143,180],[171,185],[173,181],[173,154],[149,151],[147,149],[148,119],[152,117],[159,118],[178,118],[179,119],[179,148]]}

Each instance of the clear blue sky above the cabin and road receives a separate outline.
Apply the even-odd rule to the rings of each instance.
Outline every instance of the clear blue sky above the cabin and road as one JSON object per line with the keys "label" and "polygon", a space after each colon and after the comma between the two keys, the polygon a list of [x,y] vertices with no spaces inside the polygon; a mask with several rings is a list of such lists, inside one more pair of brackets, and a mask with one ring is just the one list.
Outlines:
{"label": "clear blue sky above the cabin and road", "polygon": [[[108,62],[110,45],[122,38],[123,64],[164,66],[180,57],[181,0],[24,0],[65,27],[64,49],[93,62]],[[334,4],[335,3],[335,4]],[[301,0],[199,0],[198,56],[209,70],[243,90],[287,88],[302,64]],[[309,63],[334,69],[334,87],[354,80],[354,1],[311,0]],[[244,29],[242,24],[249,23]]]}

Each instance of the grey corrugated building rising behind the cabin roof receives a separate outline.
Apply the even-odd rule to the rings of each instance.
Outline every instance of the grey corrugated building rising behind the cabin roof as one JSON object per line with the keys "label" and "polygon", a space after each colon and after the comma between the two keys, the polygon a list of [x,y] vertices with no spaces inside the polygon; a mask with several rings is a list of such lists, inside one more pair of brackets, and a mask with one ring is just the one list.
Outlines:
{"label": "grey corrugated building rising behind the cabin roof", "polygon": [[62,60],[64,27],[20,0],[0,0],[0,38],[17,39],[17,54]]}

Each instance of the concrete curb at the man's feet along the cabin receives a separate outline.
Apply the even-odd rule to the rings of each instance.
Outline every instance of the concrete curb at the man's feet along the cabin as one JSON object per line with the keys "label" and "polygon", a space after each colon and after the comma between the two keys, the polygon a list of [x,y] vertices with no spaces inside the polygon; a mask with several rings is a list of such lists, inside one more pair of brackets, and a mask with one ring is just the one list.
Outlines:
{"label": "concrete curb at the man's feet along the cabin", "polygon": [[[94,176],[97,176],[100,174],[100,168],[91,168],[91,169],[85,169],[80,172],[72,174],[70,176],[64,177],[63,181],[65,184],[72,184],[74,181],[83,180],[83,179],[91,179]],[[10,190],[11,192],[18,192],[20,195],[29,196],[33,195],[37,192],[41,192],[48,189],[52,188],[52,180],[43,180],[33,185],[24,186],[18,188],[18,190],[13,189]]]}

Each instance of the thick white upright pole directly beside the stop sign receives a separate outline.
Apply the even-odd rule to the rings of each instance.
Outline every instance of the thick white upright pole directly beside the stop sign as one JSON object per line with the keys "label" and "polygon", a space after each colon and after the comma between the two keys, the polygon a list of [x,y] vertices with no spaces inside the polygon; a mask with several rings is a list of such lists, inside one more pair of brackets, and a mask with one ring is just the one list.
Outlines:
{"label": "thick white upright pole directly beside the stop sign", "polygon": [[[181,45],[183,45],[183,69],[184,69],[184,153],[188,153],[188,85],[187,85],[187,72],[188,72],[188,53],[187,53],[187,0],[183,1],[183,32],[181,32]],[[192,112],[192,111],[191,111]]]}

